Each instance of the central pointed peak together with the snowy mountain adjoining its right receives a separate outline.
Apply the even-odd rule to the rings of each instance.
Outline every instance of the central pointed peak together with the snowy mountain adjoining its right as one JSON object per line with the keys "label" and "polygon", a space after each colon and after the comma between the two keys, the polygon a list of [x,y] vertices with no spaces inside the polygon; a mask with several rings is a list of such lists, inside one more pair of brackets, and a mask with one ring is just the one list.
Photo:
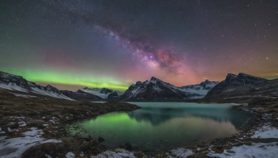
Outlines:
{"label": "central pointed peak together with the snowy mountain adjoining its right", "polygon": [[183,87],[175,87],[167,82],[163,82],[158,78],[152,77],[151,80],[145,82],[136,82],[129,89],[124,91],[120,97],[123,101],[163,101],[163,100],[189,100],[195,98],[203,98],[206,93],[219,82],[204,81],[199,85],[188,85]]}

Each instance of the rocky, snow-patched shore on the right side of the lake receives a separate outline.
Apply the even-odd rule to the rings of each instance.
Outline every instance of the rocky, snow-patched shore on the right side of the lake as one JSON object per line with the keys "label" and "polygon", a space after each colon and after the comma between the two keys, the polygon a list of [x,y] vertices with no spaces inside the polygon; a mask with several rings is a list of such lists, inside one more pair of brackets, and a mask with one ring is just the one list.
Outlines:
{"label": "rocky, snow-patched shore on the right side of the lake", "polygon": [[[227,103],[225,100],[218,101]],[[172,149],[156,157],[276,157],[278,155],[278,99],[256,98],[248,102],[239,100],[233,107],[254,114],[240,128],[239,134],[203,142],[197,146]]]}

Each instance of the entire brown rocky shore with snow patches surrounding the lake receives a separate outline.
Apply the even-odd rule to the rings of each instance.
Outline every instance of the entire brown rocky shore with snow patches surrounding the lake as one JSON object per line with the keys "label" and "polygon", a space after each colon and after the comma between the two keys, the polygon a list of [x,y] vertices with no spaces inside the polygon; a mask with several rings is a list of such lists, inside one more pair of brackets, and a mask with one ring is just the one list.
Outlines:
{"label": "entire brown rocky shore with snow patches surrounding the lake", "polygon": [[[0,157],[237,157],[243,154],[272,157],[278,154],[277,107],[276,98],[251,99],[247,104],[239,100],[233,108],[254,114],[241,127],[239,134],[156,153],[134,151],[129,144],[109,148],[101,145],[105,141],[101,137],[70,137],[65,131],[69,123],[107,112],[140,108],[136,105],[81,103],[1,90]],[[258,152],[252,153],[251,150]]]}

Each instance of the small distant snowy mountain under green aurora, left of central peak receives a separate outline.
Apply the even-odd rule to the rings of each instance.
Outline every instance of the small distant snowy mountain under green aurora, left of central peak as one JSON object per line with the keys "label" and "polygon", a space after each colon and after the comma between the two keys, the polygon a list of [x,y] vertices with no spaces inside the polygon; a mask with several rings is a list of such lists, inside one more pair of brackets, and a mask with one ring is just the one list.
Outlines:
{"label": "small distant snowy mountain under green aurora, left of central peak", "polygon": [[114,98],[117,98],[122,95],[122,92],[115,91],[113,89],[107,89],[107,88],[88,88],[85,87],[83,89],[79,89],[80,91],[84,91],[88,94],[93,94],[95,96],[99,96],[100,98],[106,100],[113,100]]}

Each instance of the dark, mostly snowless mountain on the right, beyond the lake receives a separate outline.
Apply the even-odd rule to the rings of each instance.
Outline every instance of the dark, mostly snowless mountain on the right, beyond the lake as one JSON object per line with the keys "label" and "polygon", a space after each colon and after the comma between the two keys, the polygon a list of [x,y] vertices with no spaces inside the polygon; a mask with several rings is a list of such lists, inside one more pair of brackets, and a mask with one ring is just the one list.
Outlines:
{"label": "dark, mostly snowless mountain on the right, beyond the lake", "polygon": [[208,91],[205,98],[215,98],[222,94],[231,94],[239,87],[247,87],[248,85],[256,85],[266,81],[264,78],[250,76],[245,73],[238,73],[238,76],[228,73],[226,79]]}

